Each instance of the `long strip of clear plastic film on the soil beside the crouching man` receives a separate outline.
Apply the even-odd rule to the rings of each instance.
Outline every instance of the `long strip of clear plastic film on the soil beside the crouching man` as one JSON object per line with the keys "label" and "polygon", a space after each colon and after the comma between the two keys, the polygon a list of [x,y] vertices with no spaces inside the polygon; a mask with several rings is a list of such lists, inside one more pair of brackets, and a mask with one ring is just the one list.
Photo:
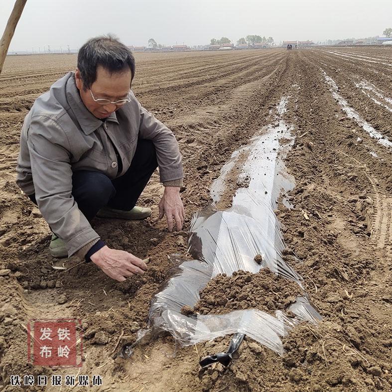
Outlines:
{"label": "long strip of clear plastic film on the soil beside the crouching man", "polygon": [[[301,277],[282,259],[284,244],[273,212],[279,193],[293,187],[283,163],[292,144],[290,128],[281,119],[286,104],[287,99],[283,98],[277,106],[276,125],[267,127],[249,146],[243,173],[249,175],[250,182],[247,188],[236,192],[232,207],[217,211],[211,204],[194,215],[188,252],[195,260],[185,261],[173,269],[171,277],[155,294],[148,316],[150,329],[144,333],[154,337],[167,331],[183,346],[227,334],[235,334],[240,344],[242,339],[238,337],[245,334],[282,355],[280,338],[292,326],[321,318],[306,294],[289,307],[294,318],[286,317],[281,311],[272,316],[257,309],[224,315],[185,316],[181,313],[184,305],[194,307],[200,290],[219,273],[232,275],[239,269],[256,273],[267,267],[302,288]],[[234,164],[238,155],[233,154],[229,165]],[[227,175],[228,171],[224,167],[221,175]],[[220,183],[223,182],[217,182]],[[220,193],[221,190],[216,189],[215,194]],[[261,264],[254,260],[258,254],[262,256]],[[129,353],[129,347],[127,350]]]}

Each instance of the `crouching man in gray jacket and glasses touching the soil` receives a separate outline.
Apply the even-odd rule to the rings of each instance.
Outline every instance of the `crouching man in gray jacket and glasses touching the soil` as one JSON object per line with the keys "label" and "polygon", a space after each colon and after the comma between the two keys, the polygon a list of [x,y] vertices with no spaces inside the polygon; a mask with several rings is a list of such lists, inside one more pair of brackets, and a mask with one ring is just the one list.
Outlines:
{"label": "crouching man in gray jacket and glasses touching the soil", "polygon": [[136,201],[159,166],[164,192],[159,218],[181,230],[182,163],[173,133],[131,91],[135,63],[116,38],[90,39],[75,72],[36,99],[24,120],[16,183],[38,205],[53,233],[49,252],[93,261],[113,279],[141,274],[145,263],[110,249],[93,230],[95,217],[144,219]]}

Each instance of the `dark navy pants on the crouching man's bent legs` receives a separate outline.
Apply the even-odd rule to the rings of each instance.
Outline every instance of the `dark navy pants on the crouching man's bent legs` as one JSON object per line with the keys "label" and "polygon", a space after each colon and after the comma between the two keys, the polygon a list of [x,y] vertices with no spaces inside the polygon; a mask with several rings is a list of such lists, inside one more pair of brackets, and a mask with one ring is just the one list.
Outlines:
{"label": "dark navy pants on the crouching man's bent legs", "polygon": [[[103,207],[129,211],[157,168],[155,147],[152,141],[139,139],[130,168],[111,180],[97,171],[79,170],[72,175],[72,196],[79,210],[91,220]],[[35,204],[35,194],[29,195]]]}

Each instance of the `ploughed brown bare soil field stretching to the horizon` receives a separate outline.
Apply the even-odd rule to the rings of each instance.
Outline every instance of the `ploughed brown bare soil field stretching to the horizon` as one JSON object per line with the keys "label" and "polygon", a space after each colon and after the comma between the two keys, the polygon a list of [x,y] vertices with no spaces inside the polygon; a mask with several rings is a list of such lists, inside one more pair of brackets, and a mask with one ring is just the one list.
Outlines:
{"label": "ploughed brown bare soil field stretching to the horizon", "polygon": [[[28,320],[75,317],[85,336],[81,374],[101,375],[102,391],[391,391],[392,48],[136,53],[135,59],[132,90],[174,132],[183,154],[187,219],[179,233],[156,221],[163,187],[154,173],[138,202],[152,208],[150,219],[93,221],[109,246],[150,257],[147,272],[126,283],[94,264],[52,269],[49,228],[15,184],[24,116],[38,95],[75,68],[76,55],[6,59],[0,76],[0,390],[14,390],[10,375],[54,372],[27,363]],[[137,346],[128,360],[114,359],[146,328],[151,298],[170,270],[191,259],[181,236],[186,240],[192,214],[210,202],[220,169],[268,125],[282,97],[288,97],[284,120],[295,136],[286,158],[295,187],[293,208],[279,202],[275,213],[284,260],[304,278],[322,320],[284,337],[283,357],[246,338],[227,369],[200,370],[199,358],[225,351],[230,336],[181,348],[166,335]],[[230,206],[237,175],[235,168],[218,208]],[[247,290],[260,290],[262,281],[261,274]],[[241,284],[227,277],[204,294],[222,297],[229,286],[241,291]]]}

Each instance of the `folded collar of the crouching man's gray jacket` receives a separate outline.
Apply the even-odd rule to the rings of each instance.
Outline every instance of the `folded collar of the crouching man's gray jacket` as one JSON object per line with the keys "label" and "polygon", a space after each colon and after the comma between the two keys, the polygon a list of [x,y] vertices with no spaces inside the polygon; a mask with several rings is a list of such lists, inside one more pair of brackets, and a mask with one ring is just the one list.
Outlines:
{"label": "folded collar of the crouching man's gray jacket", "polygon": [[[65,86],[65,91],[68,104],[74,112],[80,127],[86,135],[94,132],[104,124],[102,120],[97,119],[84,105],[82,99],[80,98],[79,90],[76,87],[75,73],[73,72],[71,73],[71,76]],[[105,119],[105,121],[111,121],[119,124],[116,112],[112,113],[108,118]]]}

